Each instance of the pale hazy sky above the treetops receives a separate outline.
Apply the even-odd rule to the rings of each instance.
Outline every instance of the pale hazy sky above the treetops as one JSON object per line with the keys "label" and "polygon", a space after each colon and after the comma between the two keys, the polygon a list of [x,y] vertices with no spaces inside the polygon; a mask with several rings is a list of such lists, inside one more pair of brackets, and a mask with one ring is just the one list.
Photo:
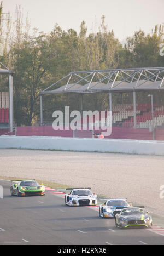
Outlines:
{"label": "pale hazy sky above the treetops", "polygon": [[[114,30],[119,41],[142,29],[151,29],[164,22],[164,0],[2,0],[3,13],[15,19],[16,5],[21,5],[24,20],[28,13],[31,29],[49,33],[57,23],[62,30],[72,28],[79,33],[86,22],[87,33],[97,32],[102,15],[108,31]],[[31,30],[32,31],[32,30]]]}

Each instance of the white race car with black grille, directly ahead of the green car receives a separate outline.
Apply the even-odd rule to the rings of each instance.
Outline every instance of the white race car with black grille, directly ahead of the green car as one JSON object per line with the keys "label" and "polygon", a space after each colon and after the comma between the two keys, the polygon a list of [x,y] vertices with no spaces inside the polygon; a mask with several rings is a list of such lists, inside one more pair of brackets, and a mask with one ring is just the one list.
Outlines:
{"label": "white race car with black grille, directly ahead of the green car", "polygon": [[90,187],[66,189],[71,190],[65,195],[65,203],[68,206],[96,206],[97,195],[92,193]]}

